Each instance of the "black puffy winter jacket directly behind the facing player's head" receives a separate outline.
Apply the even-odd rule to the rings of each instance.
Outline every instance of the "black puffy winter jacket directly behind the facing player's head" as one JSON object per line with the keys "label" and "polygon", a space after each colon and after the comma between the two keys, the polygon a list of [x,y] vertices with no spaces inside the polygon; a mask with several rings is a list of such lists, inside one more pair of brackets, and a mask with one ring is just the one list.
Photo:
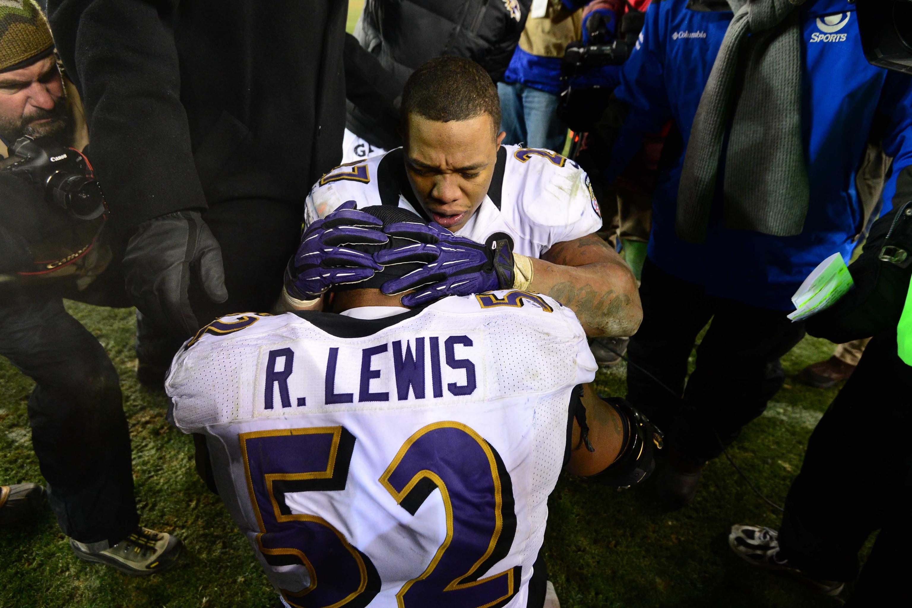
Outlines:
{"label": "black puffy winter jacket directly behind the facing player's head", "polygon": [[[385,68],[395,97],[415,68],[443,55],[469,57],[497,82],[510,65],[531,6],[532,0],[367,0],[355,37]],[[400,143],[395,122],[376,119],[350,96],[346,123],[373,146]]]}

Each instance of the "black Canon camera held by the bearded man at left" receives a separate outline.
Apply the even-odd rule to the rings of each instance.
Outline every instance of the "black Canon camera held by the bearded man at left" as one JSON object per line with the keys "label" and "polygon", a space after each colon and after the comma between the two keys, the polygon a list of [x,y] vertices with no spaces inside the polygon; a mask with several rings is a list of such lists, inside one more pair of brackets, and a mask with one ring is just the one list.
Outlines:
{"label": "black Canon camera held by the bearded man at left", "polygon": [[108,211],[91,164],[77,149],[52,138],[23,137],[0,160],[0,170],[44,190],[45,199],[77,220],[94,220]]}

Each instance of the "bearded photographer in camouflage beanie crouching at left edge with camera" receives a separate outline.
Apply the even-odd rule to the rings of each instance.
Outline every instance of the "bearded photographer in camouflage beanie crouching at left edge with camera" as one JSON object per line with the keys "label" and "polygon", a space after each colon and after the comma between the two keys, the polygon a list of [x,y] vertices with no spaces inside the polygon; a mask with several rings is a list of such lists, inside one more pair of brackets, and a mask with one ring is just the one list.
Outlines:
{"label": "bearded photographer in camouflage beanie crouching at left edge with camera", "polygon": [[[170,566],[181,544],[139,525],[117,372],[63,298],[129,305],[102,274],[107,210],[88,160],[78,96],[57,68],[31,0],[0,5],[0,355],[36,382],[32,443],[47,495],[78,558],[129,574]],[[119,284],[118,284],[119,283]],[[118,297],[119,296],[119,297]],[[34,487],[0,489],[0,521],[35,510]]]}

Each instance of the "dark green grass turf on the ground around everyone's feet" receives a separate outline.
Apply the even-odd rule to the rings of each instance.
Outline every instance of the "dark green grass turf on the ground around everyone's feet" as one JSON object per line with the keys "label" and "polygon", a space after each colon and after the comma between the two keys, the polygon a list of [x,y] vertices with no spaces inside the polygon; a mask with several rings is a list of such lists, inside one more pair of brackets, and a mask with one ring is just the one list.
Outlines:
{"label": "dark green grass turf on the ground around everyone's feet", "polygon": [[[165,421],[166,397],[139,386],[133,373],[131,310],[67,304],[117,366],[133,438],[133,470],[143,522],[186,543],[180,565],[161,576],[126,577],[78,562],[49,511],[0,531],[0,606],[72,608],[226,608],[267,606],[273,593],[253,552],[192,466],[190,438]],[[801,467],[814,422],[835,391],[798,384],[806,364],[832,345],[806,338],[782,363],[789,379],[767,415],[746,428],[731,455],[772,500],[782,502]],[[598,376],[600,388],[623,394],[623,364]],[[42,482],[27,428],[32,383],[0,359],[0,479]],[[832,602],[797,582],[752,572],[731,554],[731,523],[776,525],[724,460],[710,464],[687,510],[663,512],[650,487],[617,492],[561,479],[550,501],[545,540],[551,578],[565,608],[625,606],[777,606]]]}

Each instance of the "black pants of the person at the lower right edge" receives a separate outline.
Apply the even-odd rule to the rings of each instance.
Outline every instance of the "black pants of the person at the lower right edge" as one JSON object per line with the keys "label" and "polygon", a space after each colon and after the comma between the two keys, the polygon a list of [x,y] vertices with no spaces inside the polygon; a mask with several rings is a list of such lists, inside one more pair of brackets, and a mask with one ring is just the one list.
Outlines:
{"label": "black pants of the person at the lower right edge", "polygon": [[912,367],[896,356],[896,332],[877,335],[814,428],[785,501],[782,552],[814,577],[854,579],[858,551],[880,529],[852,597],[858,606],[889,605],[905,595],[910,407]]}

